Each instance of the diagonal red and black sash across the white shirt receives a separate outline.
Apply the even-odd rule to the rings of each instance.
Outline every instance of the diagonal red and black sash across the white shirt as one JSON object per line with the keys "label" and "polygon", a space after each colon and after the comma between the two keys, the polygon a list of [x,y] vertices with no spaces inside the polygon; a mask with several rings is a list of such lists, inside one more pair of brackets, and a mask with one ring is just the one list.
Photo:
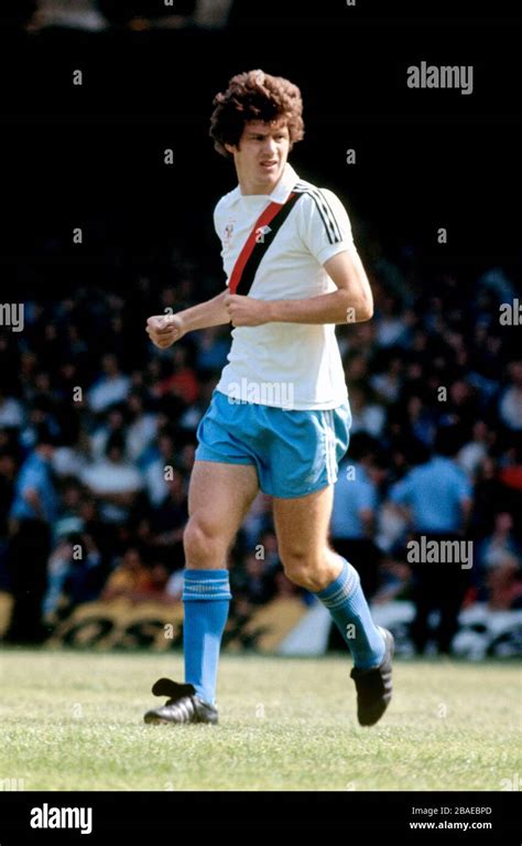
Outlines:
{"label": "diagonal red and black sash across the white shirt", "polygon": [[285,203],[270,203],[258,217],[230,274],[230,293],[248,295],[264,254],[302,195],[293,191]]}

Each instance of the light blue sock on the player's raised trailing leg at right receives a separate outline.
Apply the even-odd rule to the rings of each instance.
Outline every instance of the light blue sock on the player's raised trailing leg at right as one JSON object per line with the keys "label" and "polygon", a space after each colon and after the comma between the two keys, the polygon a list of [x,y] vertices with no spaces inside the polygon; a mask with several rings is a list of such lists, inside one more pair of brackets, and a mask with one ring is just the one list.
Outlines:
{"label": "light blue sock on the player's raised trailing leg at right", "polygon": [[385,653],[384,638],[371,619],[359,574],[344,558],[335,581],[315,596],[330,612],[359,670],[378,666]]}

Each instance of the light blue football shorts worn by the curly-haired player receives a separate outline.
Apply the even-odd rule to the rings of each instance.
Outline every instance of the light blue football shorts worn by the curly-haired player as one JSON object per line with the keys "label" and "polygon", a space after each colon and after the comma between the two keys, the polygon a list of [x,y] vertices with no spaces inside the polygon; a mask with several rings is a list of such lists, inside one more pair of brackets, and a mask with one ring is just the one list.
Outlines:
{"label": "light blue football shorts worn by the curly-haired player", "polygon": [[263,493],[306,496],[337,480],[348,449],[348,401],[331,410],[285,410],[215,390],[197,427],[196,461],[253,464]]}

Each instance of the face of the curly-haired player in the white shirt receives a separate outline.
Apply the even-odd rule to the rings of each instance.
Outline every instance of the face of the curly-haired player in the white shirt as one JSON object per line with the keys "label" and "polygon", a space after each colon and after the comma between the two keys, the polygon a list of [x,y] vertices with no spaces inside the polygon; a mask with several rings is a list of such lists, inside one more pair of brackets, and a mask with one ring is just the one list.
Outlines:
{"label": "face of the curly-haired player in the white shirt", "polygon": [[284,120],[271,124],[250,120],[244,125],[238,147],[226,144],[226,149],[233,154],[241,188],[250,194],[270,194],[289,157],[289,127]]}

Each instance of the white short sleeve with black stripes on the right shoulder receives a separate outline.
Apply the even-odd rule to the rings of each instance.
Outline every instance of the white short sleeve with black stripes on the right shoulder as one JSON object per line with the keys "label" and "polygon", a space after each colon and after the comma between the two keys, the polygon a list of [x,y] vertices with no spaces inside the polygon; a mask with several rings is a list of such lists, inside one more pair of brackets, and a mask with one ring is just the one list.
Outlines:
{"label": "white short sleeve with black stripes on the right shoulder", "polygon": [[319,265],[337,253],[355,248],[350,218],[333,191],[311,188],[300,205],[300,237]]}

